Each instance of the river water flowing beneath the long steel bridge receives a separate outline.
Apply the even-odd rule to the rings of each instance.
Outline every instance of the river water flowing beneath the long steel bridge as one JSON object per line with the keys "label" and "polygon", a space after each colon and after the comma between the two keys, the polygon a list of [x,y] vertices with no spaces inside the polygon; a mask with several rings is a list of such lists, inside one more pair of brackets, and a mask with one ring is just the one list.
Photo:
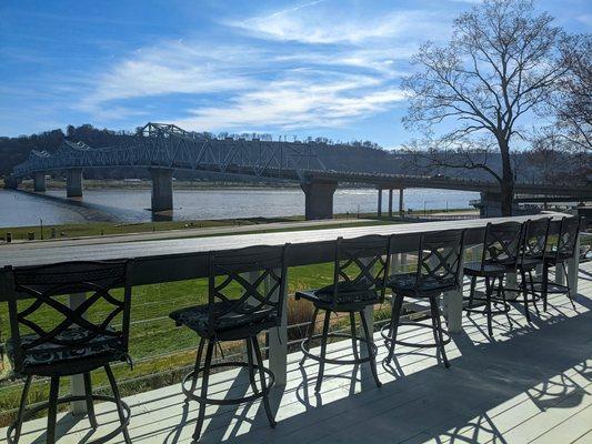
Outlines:
{"label": "river water flowing beneath the long steel bridge", "polygon": [[[207,189],[175,190],[173,220],[274,218],[304,213],[304,193],[300,189]],[[404,191],[405,209],[470,208],[479,193],[450,190],[410,189]],[[397,211],[399,198],[393,196]],[[383,211],[388,193],[383,194]],[[108,221],[150,222],[150,190],[91,189],[81,200],[67,200],[66,190],[50,190],[43,195],[0,190],[0,228],[43,223],[83,223]],[[377,211],[377,190],[340,189],[334,195],[335,213]]]}

